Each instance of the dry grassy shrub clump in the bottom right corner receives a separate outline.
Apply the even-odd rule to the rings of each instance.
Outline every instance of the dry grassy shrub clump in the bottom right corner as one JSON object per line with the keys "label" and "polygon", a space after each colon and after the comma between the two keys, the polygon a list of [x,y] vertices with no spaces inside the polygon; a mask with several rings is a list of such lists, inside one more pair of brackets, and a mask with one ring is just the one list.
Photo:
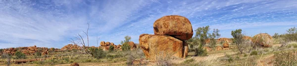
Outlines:
{"label": "dry grassy shrub clump in the bottom right corner", "polygon": [[297,66],[296,54],[297,54],[296,50],[275,52],[274,66]]}

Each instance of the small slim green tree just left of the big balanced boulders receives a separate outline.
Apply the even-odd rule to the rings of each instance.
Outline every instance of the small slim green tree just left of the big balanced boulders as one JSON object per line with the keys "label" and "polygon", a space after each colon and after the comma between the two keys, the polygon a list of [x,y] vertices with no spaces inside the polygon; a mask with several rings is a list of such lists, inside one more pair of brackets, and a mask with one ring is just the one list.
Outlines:
{"label": "small slim green tree just left of the big balanced boulders", "polygon": [[122,50],[123,51],[129,51],[130,50],[130,48],[131,48],[131,46],[129,45],[129,42],[130,42],[130,40],[131,40],[131,37],[130,36],[125,36],[124,37],[125,38],[125,40],[124,41],[121,41],[121,44],[122,44]]}

